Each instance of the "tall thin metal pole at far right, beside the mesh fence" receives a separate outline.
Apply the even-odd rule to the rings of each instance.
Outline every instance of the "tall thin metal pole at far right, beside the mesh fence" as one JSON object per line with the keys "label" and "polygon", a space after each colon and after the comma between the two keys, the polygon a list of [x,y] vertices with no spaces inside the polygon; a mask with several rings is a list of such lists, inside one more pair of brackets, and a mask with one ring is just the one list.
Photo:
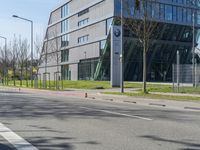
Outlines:
{"label": "tall thin metal pole at far right, beside the mesh fence", "polygon": [[[193,1],[194,3],[195,1]],[[194,3],[195,4],[195,3]],[[193,87],[195,87],[195,60],[194,60],[194,56],[195,56],[195,9],[193,8],[192,11],[192,20],[193,20],[193,25],[192,25],[192,30],[193,30],[193,40],[192,40],[192,84]]]}

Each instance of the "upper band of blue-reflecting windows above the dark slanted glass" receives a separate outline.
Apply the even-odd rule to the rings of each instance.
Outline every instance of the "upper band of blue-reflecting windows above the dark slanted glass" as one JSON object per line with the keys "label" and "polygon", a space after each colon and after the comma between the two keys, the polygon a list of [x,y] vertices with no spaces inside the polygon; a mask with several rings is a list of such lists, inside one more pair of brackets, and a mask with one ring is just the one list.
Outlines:
{"label": "upper band of blue-reflecting windows above the dark slanted glass", "polygon": [[[193,3],[194,1],[194,3]],[[135,1],[124,1],[124,14],[128,17],[134,12],[135,17],[143,13],[142,8],[139,12],[134,10]],[[126,8],[127,7],[127,8]],[[200,2],[199,0],[158,0],[148,3],[148,15],[160,21],[171,21],[173,23],[192,24],[192,14],[195,14],[195,24],[200,25]],[[121,14],[120,0],[115,0],[115,16]],[[159,14],[159,15],[158,15]]]}

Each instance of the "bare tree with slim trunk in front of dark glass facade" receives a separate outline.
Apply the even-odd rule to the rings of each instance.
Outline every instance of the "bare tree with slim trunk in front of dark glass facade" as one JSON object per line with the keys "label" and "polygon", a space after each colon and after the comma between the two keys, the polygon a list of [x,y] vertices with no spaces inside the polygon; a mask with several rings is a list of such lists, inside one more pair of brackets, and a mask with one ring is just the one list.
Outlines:
{"label": "bare tree with slim trunk in front of dark glass facade", "polygon": [[124,11],[127,15],[124,19],[125,26],[139,40],[143,48],[143,92],[147,93],[147,52],[156,36],[158,26],[159,7],[156,0],[123,0]]}

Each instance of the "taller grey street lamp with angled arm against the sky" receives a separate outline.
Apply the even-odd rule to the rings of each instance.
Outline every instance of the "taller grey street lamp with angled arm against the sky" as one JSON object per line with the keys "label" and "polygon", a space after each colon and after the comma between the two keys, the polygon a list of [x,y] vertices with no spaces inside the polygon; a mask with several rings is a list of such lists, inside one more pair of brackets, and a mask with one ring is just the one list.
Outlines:
{"label": "taller grey street lamp with angled arm against the sky", "polygon": [[31,23],[31,72],[30,74],[31,74],[31,87],[33,87],[33,78],[32,78],[33,76],[33,21],[26,18],[19,17],[17,15],[13,15],[12,17],[25,20]]}

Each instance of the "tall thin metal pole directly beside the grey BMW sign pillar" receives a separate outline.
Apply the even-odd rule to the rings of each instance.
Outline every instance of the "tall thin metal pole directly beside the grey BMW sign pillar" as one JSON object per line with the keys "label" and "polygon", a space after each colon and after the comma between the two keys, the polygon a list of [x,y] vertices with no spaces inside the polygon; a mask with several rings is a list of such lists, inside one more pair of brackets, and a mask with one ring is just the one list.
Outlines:
{"label": "tall thin metal pole directly beside the grey BMW sign pillar", "polygon": [[124,42],[123,42],[123,0],[121,0],[121,61],[120,61],[120,87],[121,87],[121,93],[124,93],[124,53],[123,53],[123,47],[124,47]]}

